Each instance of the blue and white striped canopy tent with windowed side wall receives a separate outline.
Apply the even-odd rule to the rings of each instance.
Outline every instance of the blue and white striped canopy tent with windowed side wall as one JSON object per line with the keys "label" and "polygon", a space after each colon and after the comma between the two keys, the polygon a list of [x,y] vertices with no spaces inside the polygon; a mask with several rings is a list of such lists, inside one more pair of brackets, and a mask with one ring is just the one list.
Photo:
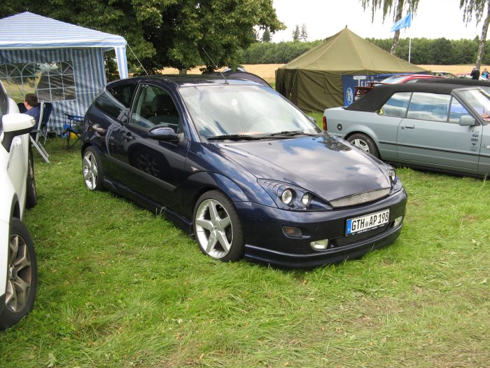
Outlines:
{"label": "blue and white striped canopy tent with windowed side wall", "polygon": [[[71,88],[76,90],[76,96],[54,100],[43,98],[45,102],[52,102],[48,126],[58,133],[62,132],[66,123],[66,114],[85,115],[106,85],[104,52],[116,51],[119,76],[121,79],[128,77],[126,45],[126,40],[121,36],[29,12],[0,19],[0,69],[3,68],[0,71],[3,70],[4,76],[9,74],[13,65],[19,64],[64,62],[73,67],[74,86]],[[17,85],[14,83],[13,86]]]}

